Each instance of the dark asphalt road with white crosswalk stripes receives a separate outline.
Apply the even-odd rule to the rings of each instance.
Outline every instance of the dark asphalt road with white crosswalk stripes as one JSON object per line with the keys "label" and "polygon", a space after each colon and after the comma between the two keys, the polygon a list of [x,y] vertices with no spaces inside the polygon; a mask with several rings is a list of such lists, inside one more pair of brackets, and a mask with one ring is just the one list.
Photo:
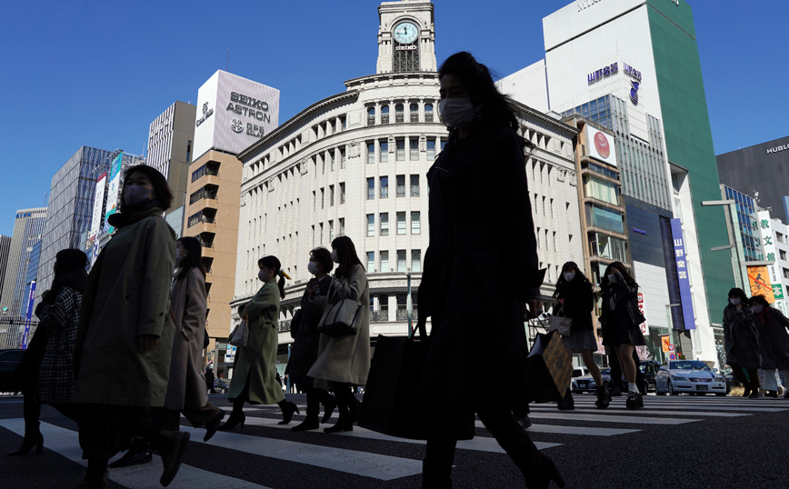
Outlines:
{"label": "dark asphalt road with white crosswalk stripes", "polygon": [[[211,402],[229,404],[224,395]],[[304,414],[304,396],[288,395]],[[532,439],[551,456],[572,488],[724,489],[789,487],[789,399],[717,396],[644,398],[644,409],[614,398],[605,411],[591,394],[575,395],[575,410],[532,404]],[[181,472],[169,487],[418,488],[424,444],[356,428],[351,434],[293,433],[279,409],[248,409],[243,430],[218,433],[204,444],[193,430]],[[291,426],[303,415],[296,415]],[[0,451],[21,442],[22,398],[0,397]],[[76,426],[45,406],[42,454],[0,456],[0,486],[74,488],[85,474]],[[520,488],[523,478],[490,434],[459,445],[455,488]],[[182,429],[192,430],[182,419]],[[113,488],[160,487],[161,463],[110,472]]]}

